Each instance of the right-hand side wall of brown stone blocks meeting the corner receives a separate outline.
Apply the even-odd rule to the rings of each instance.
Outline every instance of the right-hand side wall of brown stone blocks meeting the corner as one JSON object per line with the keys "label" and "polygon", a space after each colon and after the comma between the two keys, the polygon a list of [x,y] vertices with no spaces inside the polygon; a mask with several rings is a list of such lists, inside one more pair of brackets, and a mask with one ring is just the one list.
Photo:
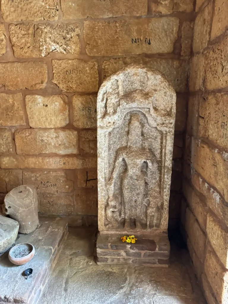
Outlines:
{"label": "right-hand side wall of brown stone blocks meeting the corner", "polygon": [[196,1],[181,223],[209,304],[228,301],[227,1]]}

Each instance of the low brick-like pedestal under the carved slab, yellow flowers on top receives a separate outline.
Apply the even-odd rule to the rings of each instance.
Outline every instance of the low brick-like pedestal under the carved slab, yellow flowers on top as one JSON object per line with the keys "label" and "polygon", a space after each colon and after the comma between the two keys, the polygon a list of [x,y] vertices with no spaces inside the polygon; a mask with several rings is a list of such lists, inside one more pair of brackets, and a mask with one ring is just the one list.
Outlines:
{"label": "low brick-like pedestal under the carved slab, yellow flowers on top", "polygon": [[121,236],[98,235],[97,264],[123,264],[168,267],[170,244],[168,236],[139,237],[135,244],[121,241]]}

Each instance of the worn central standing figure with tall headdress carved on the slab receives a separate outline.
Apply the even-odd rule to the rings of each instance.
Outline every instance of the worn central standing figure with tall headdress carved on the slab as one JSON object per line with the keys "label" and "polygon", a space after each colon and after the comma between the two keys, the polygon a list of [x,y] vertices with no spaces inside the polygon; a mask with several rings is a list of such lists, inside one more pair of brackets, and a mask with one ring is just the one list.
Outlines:
{"label": "worn central standing figure with tall headdress carved on the slab", "polygon": [[[132,114],[128,127],[127,146],[117,150],[114,169],[108,182],[108,205],[106,217],[108,223],[122,223],[124,228],[147,228],[147,197],[149,170],[156,169],[156,159],[150,149],[142,145],[142,126],[140,116]],[[122,166],[123,162],[125,166]],[[123,168],[121,170],[121,168]],[[122,203],[117,200],[115,183],[120,181]]]}

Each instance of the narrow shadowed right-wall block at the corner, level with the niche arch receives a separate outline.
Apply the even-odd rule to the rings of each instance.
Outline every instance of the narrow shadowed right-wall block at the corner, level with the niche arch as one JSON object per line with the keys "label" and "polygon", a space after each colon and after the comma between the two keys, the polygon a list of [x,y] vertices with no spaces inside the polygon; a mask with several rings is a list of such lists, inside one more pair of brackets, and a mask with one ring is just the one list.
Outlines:
{"label": "narrow shadowed right-wall block at the corner, level with the niche arch", "polygon": [[198,106],[199,106],[199,95],[189,96],[188,99],[188,121],[187,121],[187,132],[188,135],[194,136],[198,132]]}

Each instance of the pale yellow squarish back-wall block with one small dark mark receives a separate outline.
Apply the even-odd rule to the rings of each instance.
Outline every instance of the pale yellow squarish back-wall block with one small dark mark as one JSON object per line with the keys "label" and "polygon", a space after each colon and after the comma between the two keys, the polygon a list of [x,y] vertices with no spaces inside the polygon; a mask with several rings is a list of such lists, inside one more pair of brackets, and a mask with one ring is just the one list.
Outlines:
{"label": "pale yellow squarish back-wall block with one small dark mark", "polygon": [[65,95],[26,95],[26,112],[32,128],[61,128],[69,123]]}

